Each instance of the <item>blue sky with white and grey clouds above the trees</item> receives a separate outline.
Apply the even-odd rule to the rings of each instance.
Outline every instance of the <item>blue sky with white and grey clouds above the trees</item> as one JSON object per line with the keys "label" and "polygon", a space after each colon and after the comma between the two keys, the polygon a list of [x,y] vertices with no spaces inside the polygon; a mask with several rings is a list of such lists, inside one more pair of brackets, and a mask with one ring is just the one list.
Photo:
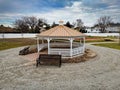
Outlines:
{"label": "blue sky with white and grey clouds above the trees", "polygon": [[80,18],[92,26],[105,15],[120,22],[120,0],[0,0],[0,24],[9,26],[22,16],[45,18],[48,23]]}

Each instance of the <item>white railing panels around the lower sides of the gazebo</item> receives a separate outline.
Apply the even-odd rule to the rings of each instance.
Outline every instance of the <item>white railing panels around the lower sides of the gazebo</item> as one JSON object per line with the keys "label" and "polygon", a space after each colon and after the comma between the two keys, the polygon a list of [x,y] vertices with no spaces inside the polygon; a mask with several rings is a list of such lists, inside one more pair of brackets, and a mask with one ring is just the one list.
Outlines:
{"label": "white railing panels around the lower sides of the gazebo", "polygon": [[[61,47],[60,47],[61,46]],[[48,44],[40,44],[39,51],[47,48]],[[59,48],[60,47],[60,48]],[[74,44],[72,48],[72,56],[79,55],[84,53],[84,45],[78,46],[78,44]],[[59,43],[51,43],[50,47],[50,54],[60,54],[63,57],[70,57],[71,56],[71,49],[68,44],[59,44]]]}

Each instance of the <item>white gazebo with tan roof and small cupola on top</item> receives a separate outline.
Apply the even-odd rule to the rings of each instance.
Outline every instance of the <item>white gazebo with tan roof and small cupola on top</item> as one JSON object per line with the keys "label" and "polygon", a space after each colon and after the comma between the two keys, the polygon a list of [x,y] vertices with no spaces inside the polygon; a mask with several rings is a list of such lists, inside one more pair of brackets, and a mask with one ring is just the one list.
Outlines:
{"label": "white gazebo with tan roof and small cupola on top", "polygon": [[[42,44],[39,44],[40,39],[42,40]],[[76,39],[77,42],[74,42]],[[47,40],[47,43],[44,43],[44,40]],[[62,57],[72,58],[84,54],[85,35],[77,30],[64,26],[63,21],[60,21],[59,26],[37,35],[38,53],[43,47],[48,48],[48,54],[60,54]]]}

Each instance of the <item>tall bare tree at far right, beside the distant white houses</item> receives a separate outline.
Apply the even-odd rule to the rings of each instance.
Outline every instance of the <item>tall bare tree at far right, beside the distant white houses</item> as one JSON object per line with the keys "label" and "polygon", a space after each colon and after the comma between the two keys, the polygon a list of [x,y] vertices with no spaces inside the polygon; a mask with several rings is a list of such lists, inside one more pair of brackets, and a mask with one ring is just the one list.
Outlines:
{"label": "tall bare tree at far right, beside the distant white houses", "polygon": [[106,32],[106,28],[112,23],[112,18],[110,16],[102,16],[98,19],[98,26],[101,32]]}

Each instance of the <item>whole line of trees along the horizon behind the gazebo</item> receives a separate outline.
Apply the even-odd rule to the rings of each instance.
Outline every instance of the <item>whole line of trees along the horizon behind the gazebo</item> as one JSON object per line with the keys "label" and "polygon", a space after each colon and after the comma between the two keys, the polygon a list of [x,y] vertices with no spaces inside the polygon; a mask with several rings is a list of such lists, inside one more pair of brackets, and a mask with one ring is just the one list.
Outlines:
{"label": "whole line of trees along the horizon behind the gazebo", "polygon": [[[99,27],[99,30],[102,33],[106,32],[106,29],[111,25],[114,24],[112,18],[110,16],[102,16],[97,20],[97,23],[93,27]],[[5,32],[16,32],[16,33],[40,33],[43,30],[48,30],[55,26],[58,26],[55,22],[52,25],[47,23],[46,19],[36,18],[34,16],[24,16],[20,19],[15,20],[13,23],[14,28],[5,27],[0,25],[0,33]],[[70,23],[67,21],[65,26],[69,28],[74,28],[82,33],[86,33],[86,26],[81,19],[75,20],[75,22]]]}

